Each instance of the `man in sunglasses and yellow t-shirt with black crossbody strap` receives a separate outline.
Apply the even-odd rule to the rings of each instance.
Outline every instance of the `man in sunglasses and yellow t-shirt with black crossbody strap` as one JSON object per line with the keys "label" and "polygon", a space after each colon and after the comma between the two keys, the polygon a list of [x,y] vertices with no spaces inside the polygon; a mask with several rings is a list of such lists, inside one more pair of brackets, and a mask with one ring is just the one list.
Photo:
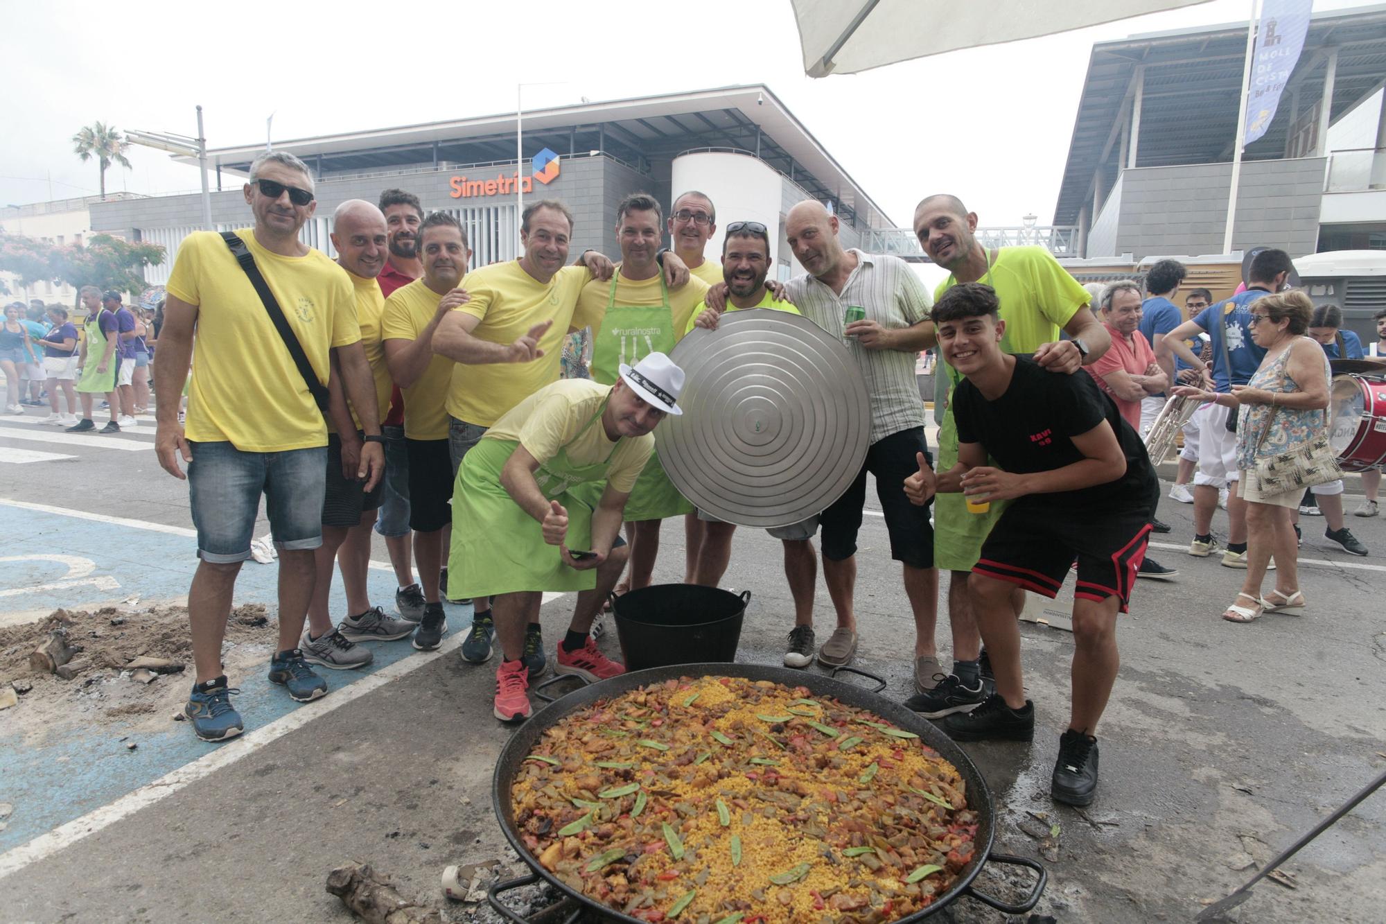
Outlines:
{"label": "man in sunglasses and yellow t-shirt with black crossbody strap", "polygon": [[[326,386],[335,352],[346,397],[363,411],[362,427],[378,437],[374,415],[365,413],[376,397],[351,280],[298,239],[315,208],[308,166],[292,154],[266,151],[251,164],[244,196],[255,226],[236,236],[302,347],[309,375],[316,386]],[[179,425],[179,402],[161,401],[154,448],[169,474],[187,477],[197,526],[201,562],[188,591],[195,677],[184,712],[204,741],[223,741],[244,728],[222,673],[222,638],[236,574],[251,556],[261,494],[280,567],[279,648],[270,658],[269,680],[287,687],[298,702],[327,692],[327,681],[313,673],[299,648],[313,597],[313,549],[323,544],[327,427],[262,305],[229,241],[211,232],[183,241],[168,282],[154,366],[158,382],[177,383],[195,359],[187,427]],[[188,462],[187,476],[179,455]],[[366,444],[358,477],[367,490],[380,481],[383,468],[381,445]]]}

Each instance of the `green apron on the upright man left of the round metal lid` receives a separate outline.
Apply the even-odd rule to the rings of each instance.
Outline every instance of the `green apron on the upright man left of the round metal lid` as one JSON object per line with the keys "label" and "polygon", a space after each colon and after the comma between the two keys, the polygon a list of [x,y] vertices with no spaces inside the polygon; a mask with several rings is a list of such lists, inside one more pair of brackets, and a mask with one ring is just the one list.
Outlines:
{"label": "green apron on the upright man left of the round metal lid", "polygon": [[[668,355],[678,341],[664,275],[660,275],[660,296],[664,300],[660,305],[617,305],[618,279],[620,273],[611,276],[606,315],[592,347],[592,379],[602,384],[615,384],[622,362],[633,366],[651,352]],[[693,509],[669,481],[660,463],[660,454],[654,452],[631,488],[631,499],[625,504],[626,522],[663,520],[692,513]]]}

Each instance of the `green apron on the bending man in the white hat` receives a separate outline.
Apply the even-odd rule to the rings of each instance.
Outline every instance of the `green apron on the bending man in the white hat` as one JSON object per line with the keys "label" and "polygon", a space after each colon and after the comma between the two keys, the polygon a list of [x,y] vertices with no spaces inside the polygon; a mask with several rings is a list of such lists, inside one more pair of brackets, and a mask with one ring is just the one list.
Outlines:
{"label": "green apron on the bending man in the white hat", "polygon": [[[581,437],[602,419],[599,409],[578,433]],[[577,438],[577,437],[575,437]],[[596,569],[577,570],[563,563],[557,545],[543,541],[543,526],[529,516],[500,486],[500,470],[520,443],[481,440],[467,452],[457,470],[452,495],[452,551],[448,585],[457,597],[489,597],[517,591],[584,591],[597,583]],[[620,445],[620,441],[617,443]],[[567,448],[542,462],[535,472],[539,490],[568,511],[567,545],[572,551],[592,548],[592,512],[600,499],[615,447],[602,462],[577,465]],[[577,497],[578,486],[596,490],[589,501]],[[586,493],[585,493],[586,494]]]}

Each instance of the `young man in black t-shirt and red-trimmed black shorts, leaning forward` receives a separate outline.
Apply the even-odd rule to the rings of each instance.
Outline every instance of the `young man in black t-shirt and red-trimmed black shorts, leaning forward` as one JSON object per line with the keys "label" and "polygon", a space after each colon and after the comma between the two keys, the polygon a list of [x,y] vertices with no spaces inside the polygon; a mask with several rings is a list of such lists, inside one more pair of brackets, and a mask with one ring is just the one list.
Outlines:
{"label": "young man in black t-shirt and red-trimmed black shorts, leaning forward", "polygon": [[1159,481],[1141,437],[1092,376],[1053,375],[1001,351],[1005,322],[990,286],[949,289],[933,320],[944,358],[966,376],[952,405],[958,465],[936,474],[920,456],[905,493],[915,504],[934,491],[962,491],[970,504],[1015,501],[969,581],[997,692],[969,713],[948,716],[942,728],[959,741],[1034,737],[1012,590],[1019,584],[1052,598],[1077,561],[1071,713],[1051,792],[1059,802],[1088,805],[1098,785],[1094,731],[1120,663],[1117,613],[1125,612],[1145,556]]}

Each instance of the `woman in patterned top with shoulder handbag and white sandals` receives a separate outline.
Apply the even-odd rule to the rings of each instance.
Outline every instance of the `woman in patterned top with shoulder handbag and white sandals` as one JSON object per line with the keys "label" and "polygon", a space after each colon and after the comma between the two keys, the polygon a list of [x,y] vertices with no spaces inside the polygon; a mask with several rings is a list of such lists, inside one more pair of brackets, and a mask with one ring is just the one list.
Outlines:
{"label": "woman in patterned top with shoulder handbag and white sandals", "polygon": [[[1290,513],[1299,508],[1307,486],[1342,477],[1328,443],[1332,376],[1328,357],[1304,336],[1313,312],[1314,302],[1303,291],[1256,300],[1252,339],[1265,350],[1265,357],[1250,382],[1232,386],[1231,394],[1186,386],[1174,390],[1238,409],[1238,494],[1247,501],[1247,562],[1242,591],[1222,613],[1228,622],[1250,623],[1261,613],[1303,612]],[[1272,556],[1275,590],[1263,597],[1261,581]]]}

